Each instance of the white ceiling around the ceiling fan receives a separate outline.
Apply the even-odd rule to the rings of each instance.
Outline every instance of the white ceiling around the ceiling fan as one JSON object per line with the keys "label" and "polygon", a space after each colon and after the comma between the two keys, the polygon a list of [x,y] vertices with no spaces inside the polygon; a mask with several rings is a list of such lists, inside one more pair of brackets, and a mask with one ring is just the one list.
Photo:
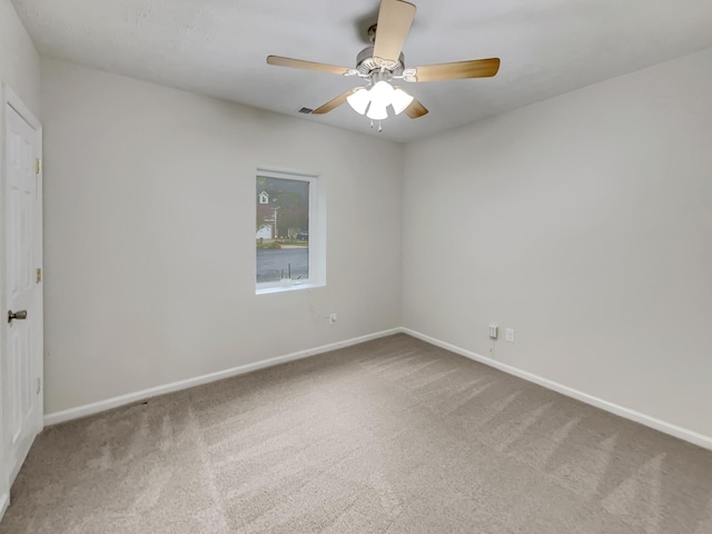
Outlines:
{"label": "white ceiling around the ceiling fan", "polygon": [[429,110],[383,132],[348,106],[317,108],[354,78],[266,63],[353,67],[378,0],[13,0],[46,56],[397,141],[712,47],[712,0],[415,0],[406,66],[498,57],[478,80],[409,85]]}

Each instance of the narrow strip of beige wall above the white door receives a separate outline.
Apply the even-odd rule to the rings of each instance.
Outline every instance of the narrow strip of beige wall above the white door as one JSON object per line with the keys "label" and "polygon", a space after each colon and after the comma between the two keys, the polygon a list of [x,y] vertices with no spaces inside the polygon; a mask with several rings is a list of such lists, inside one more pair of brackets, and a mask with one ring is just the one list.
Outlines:
{"label": "narrow strip of beige wall above the white door", "polygon": [[40,58],[10,0],[0,0],[0,82],[40,117]]}

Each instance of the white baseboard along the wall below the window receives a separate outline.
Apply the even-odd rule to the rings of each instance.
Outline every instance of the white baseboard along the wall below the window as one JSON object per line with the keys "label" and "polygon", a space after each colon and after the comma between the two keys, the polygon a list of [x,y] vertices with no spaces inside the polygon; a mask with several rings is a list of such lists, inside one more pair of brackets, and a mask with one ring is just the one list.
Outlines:
{"label": "white baseboard along the wall below the window", "polygon": [[305,350],[298,350],[296,353],[286,354],[284,356],[277,356],[274,358],[263,359],[253,364],[245,364],[230,369],[220,370],[218,373],[210,373],[208,375],[197,376],[195,378],[188,378],[186,380],[174,382],[162,386],[151,387],[140,392],[129,393],[127,395],[120,395],[118,397],[107,398],[106,400],[99,400],[97,403],[86,404],[83,406],[77,406],[76,408],[63,409],[61,412],[55,412],[52,414],[44,415],[44,426],[57,425],[80,417],[87,417],[88,415],[106,412],[107,409],[116,408],[127,404],[136,403],[138,400],[145,400],[158,395],[165,395],[166,393],[178,392],[180,389],[187,389],[189,387],[200,386],[210,382],[221,380],[231,376],[244,375],[253,370],[263,369],[265,367],[271,367],[274,365],[284,364],[286,362],[293,362],[295,359],[306,358],[322,353],[328,353],[337,348],[348,347],[358,343],[369,342],[379,337],[390,336],[398,334],[400,328],[392,328],[389,330],[377,332],[375,334],[368,334],[366,336],[354,337],[343,342],[330,343],[328,345],[322,345],[320,347],[307,348]]}

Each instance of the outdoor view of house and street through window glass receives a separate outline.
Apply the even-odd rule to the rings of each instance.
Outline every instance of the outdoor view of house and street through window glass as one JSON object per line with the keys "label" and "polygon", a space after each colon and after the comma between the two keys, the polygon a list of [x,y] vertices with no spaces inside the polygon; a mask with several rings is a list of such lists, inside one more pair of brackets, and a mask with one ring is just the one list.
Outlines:
{"label": "outdoor view of house and street through window glass", "polygon": [[309,279],[309,178],[257,176],[258,287]]}

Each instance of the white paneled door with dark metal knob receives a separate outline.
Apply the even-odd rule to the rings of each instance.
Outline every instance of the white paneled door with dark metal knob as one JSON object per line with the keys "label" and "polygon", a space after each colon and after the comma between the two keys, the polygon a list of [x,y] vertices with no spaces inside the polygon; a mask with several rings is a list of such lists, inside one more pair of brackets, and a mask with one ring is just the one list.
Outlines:
{"label": "white paneled door with dark metal knob", "polygon": [[42,428],[41,130],[6,103],[3,448],[8,483]]}

